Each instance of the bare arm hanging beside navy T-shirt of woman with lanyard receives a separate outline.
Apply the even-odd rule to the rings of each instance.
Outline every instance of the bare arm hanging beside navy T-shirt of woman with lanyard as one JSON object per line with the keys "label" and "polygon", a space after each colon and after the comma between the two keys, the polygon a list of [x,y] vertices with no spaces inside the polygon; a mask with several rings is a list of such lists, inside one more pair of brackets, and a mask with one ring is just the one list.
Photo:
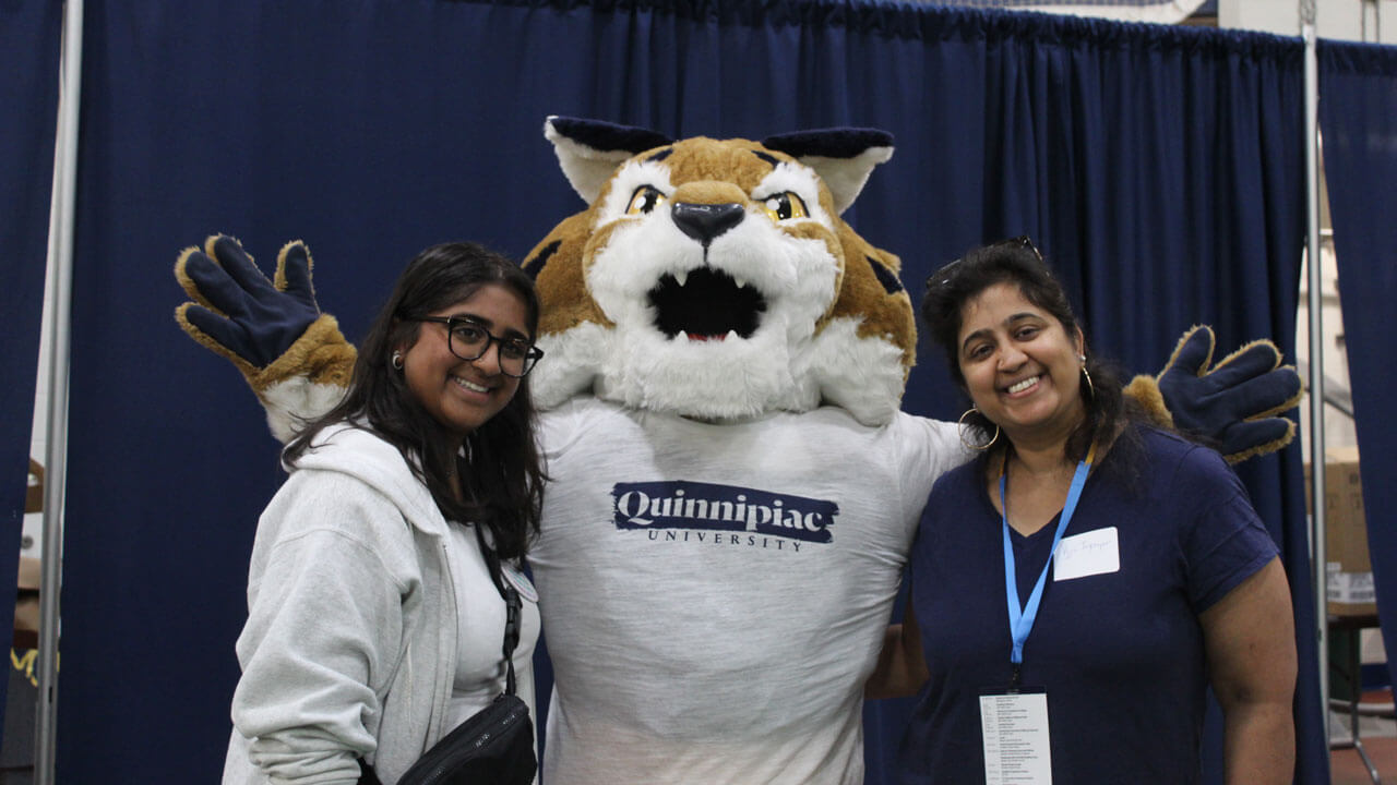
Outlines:
{"label": "bare arm hanging beside navy T-shirt of woman with lanyard", "polygon": [[1295,775],[1295,622],[1280,557],[1199,615],[1222,707],[1228,785]]}

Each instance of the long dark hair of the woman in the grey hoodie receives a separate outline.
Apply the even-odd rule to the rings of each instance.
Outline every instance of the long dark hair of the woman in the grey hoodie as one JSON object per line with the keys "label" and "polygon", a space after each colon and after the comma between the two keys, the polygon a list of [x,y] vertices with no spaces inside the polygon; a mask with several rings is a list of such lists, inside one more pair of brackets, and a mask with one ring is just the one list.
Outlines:
{"label": "long dark hair of the woman in the grey hoodie", "polygon": [[[448,307],[489,284],[506,286],[524,300],[532,338],[538,331],[538,295],[518,265],[476,243],[432,246],[404,268],[359,344],[353,380],[344,399],[286,444],[282,461],[295,465],[323,429],[355,422],[402,453],[448,521],[481,527],[490,534],[499,557],[517,559],[538,534],[546,479],[534,436],[528,377],[520,380],[514,397],[497,415],[467,436],[457,453],[441,439],[441,425],[393,367],[394,348],[411,345],[422,327],[405,317]],[[453,474],[460,478],[464,500],[451,492]]]}

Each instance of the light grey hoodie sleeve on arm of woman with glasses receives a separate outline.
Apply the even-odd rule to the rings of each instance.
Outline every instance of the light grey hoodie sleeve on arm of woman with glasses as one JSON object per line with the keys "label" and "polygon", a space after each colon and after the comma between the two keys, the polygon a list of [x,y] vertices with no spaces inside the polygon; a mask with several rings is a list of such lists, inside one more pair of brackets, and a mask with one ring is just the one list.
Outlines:
{"label": "light grey hoodie sleeve on arm of woman with glasses", "polygon": [[232,704],[263,777],[353,782],[376,749],[407,591],[374,529],[394,521],[407,536],[381,496],[331,472],[293,474],[263,515]]}

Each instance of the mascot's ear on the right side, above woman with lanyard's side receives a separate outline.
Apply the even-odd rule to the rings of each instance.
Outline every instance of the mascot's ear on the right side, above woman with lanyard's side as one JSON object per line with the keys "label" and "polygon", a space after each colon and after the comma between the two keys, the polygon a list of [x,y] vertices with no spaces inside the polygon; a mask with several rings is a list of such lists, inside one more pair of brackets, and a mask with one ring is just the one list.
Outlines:
{"label": "mascot's ear on the right side, above woman with lanyard's side", "polygon": [[876,129],[824,129],[761,140],[761,147],[784,152],[814,169],[842,214],[859,197],[869,173],[893,158],[893,134]]}

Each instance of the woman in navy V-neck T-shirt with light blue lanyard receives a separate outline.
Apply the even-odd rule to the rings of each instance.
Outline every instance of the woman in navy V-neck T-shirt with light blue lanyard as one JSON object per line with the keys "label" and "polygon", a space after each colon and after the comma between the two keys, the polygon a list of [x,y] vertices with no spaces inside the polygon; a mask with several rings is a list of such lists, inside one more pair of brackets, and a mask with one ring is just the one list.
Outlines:
{"label": "woman in navy V-neck T-shirt with light blue lanyard", "polygon": [[1146,425],[1037,249],[988,246],[922,314],[974,408],[870,697],[918,694],[901,784],[1289,782],[1296,676],[1277,548],[1222,458]]}

